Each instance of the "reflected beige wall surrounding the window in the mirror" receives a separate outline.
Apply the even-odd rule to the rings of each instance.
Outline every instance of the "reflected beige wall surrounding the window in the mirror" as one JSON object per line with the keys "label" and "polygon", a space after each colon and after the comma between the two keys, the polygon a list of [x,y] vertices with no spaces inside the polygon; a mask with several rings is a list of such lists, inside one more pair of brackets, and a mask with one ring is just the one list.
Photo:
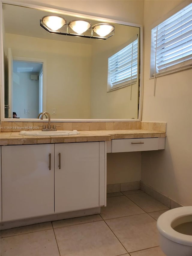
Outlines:
{"label": "reflected beige wall surrounding the window in the mirror", "polygon": [[[91,118],[138,118],[138,84],[107,92],[108,58],[130,44],[140,29],[115,26],[115,35],[107,40],[95,40],[92,50]],[[132,41],[131,41],[132,40]],[[108,107],[110,106],[110,107]]]}

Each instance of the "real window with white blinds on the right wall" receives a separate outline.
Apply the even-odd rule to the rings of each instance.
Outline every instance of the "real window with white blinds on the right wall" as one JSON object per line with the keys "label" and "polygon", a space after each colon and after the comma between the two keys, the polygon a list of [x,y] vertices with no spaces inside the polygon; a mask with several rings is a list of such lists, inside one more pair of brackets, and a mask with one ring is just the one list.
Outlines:
{"label": "real window with white blinds on the right wall", "polygon": [[151,77],[192,67],[192,4],[152,29]]}

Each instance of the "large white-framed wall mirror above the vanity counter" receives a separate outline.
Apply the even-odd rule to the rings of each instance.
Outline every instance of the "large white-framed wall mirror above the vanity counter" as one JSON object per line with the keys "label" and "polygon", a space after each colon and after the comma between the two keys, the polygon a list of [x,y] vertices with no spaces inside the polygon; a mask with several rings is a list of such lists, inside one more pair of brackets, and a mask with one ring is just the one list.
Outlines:
{"label": "large white-framed wall mirror above the vanity counter", "polygon": [[[140,26],[103,19],[115,27],[114,35],[106,40],[57,35],[40,26],[42,17],[55,14],[44,10],[2,4],[1,121],[10,121],[13,112],[20,118],[18,121],[35,119],[42,111],[59,121],[140,119]],[[66,12],[58,15],[67,22],[77,19]],[[99,18],[81,19],[92,26],[101,23]],[[121,88],[118,84],[110,87],[109,58],[135,40],[138,44],[134,79]]]}

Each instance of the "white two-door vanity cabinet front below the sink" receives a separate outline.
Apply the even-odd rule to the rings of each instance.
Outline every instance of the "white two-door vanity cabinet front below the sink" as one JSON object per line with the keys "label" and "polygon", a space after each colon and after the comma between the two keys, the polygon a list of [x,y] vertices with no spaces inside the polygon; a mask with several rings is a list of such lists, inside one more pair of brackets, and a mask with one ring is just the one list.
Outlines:
{"label": "white two-door vanity cabinet front below the sink", "polygon": [[2,221],[105,205],[105,142],[1,146]]}

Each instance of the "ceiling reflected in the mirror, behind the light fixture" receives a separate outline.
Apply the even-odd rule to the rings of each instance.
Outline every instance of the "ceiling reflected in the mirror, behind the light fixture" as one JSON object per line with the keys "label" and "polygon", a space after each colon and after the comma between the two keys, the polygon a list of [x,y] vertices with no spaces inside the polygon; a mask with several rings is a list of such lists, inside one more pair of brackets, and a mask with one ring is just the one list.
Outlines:
{"label": "ceiling reflected in the mirror, behind the light fixture", "polygon": [[[37,9],[21,7],[16,5],[3,4],[3,17],[5,33],[25,35],[36,38],[44,38],[50,40],[59,40],[67,42],[75,42],[81,44],[93,44],[95,39],[74,37],[68,35],[50,34],[40,26],[40,20],[46,15],[55,13],[41,11]],[[76,19],[76,17],[61,15],[67,21]],[[87,19],[88,20],[88,19]],[[92,25],[98,24],[96,20],[88,20]],[[117,26],[117,24],[116,24]]]}

